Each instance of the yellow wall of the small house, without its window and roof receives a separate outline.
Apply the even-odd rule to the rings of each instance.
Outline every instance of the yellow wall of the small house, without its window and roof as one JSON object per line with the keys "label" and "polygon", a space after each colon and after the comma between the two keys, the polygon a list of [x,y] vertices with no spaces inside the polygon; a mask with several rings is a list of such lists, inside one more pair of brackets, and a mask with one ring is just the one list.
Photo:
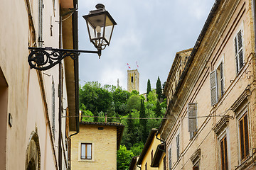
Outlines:
{"label": "yellow wall of the small house, without its window and roof", "polygon": [[[104,127],[104,130],[98,130]],[[80,161],[80,142],[91,142],[93,162]],[[71,169],[117,169],[117,128],[114,126],[80,125],[71,138]]]}

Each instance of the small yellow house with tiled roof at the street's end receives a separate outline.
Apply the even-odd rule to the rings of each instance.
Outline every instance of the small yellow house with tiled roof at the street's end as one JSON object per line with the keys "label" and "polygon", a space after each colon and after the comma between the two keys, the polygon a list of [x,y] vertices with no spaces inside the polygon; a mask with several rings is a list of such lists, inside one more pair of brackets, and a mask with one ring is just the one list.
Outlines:
{"label": "small yellow house with tiled roof at the street's end", "polygon": [[72,169],[117,169],[117,150],[124,125],[81,122],[80,132],[72,137]]}

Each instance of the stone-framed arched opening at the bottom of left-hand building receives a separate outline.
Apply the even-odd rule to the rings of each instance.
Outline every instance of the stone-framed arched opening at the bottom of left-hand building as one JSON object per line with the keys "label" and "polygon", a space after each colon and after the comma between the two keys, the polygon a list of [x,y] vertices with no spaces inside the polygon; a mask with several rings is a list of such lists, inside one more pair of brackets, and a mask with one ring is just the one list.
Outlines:
{"label": "stone-framed arched opening at the bottom of left-hand building", "polygon": [[26,170],[41,169],[41,152],[37,132],[31,132],[26,150]]}

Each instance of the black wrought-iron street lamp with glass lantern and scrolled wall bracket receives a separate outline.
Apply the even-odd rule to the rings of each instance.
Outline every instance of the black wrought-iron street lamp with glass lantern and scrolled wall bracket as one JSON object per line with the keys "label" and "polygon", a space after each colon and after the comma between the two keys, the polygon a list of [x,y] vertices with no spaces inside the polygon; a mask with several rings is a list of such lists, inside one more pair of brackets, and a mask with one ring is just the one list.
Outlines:
{"label": "black wrought-iron street lamp with glass lantern and scrolled wall bracket", "polygon": [[103,4],[97,4],[96,10],[90,11],[86,16],[87,30],[90,37],[90,42],[97,48],[97,51],[90,50],[69,50],[58,49],[53,47],[28,47],[31,53],[28,55],[28,64],[31,69],[47,70],[59,64],[65,57],[71,57],[73,60],[78,60],[80,52],[95,53],[101,56],[101,50],[104,50],[107,45],[110,45],[110,40],[114,25],[114,21],[110,13],[105,10]]}

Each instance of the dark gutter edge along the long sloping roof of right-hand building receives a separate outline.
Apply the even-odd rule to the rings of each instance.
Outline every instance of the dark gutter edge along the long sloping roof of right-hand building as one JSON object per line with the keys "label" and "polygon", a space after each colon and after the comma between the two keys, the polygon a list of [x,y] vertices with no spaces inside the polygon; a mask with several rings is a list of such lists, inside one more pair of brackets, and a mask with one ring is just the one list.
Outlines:
{"label": "dark gutter edge along the long sloping roof of right-hand building", "polygon": [[[213,4],[213,7],[210,10],[210,13],[209,13],[209,15],[208,15],[208,17],[206,19],[206,23],[204,24],[203,29],[201,30],[201,33],[199,34],[198,39],[196,40],[196,44],[193,47],[191,55],[188,57],[188,62],[186,62],[186,66],[185,66],[185,68],[184,68],[184,70],[183,70],[183,72],[181,74],[181,78],[178,81],[178,84],[177,84],[176,90],[175,90],[176,92],[175,92],[174,95],[176,95],[178,93],[178,89],[181,88],[181,84],[182,84],[184,78],[186,77],[186,74],[188,72],[188,68],[190,67],[190,65],[191,65],[191,63],[193,61],[193,58],[195,57],[196,52],[198,51],[198,47],[200,47],[201,42],[202,42],[204,36],[206,35],[206,31],[208,30],[208,26],[210,25],[210,23],[212,21],[212,18],[214,16],[215,12],[218,9],[218,6],[220,5],[220,1],[221,0],[215,0],[215,3]],[[172,102],[173,102],[173,98],[171,98],[170,103],[172,103]],[[166,118],[167,113],[169,113],[170,106],[171,106],[170,104],[169,104],[169,106],[167,106],[167,110],[166,110],[166,113],[164,115],[164,118]],[[161,121],[161,124],[159,126],[159,132],[161,132],[165,122],[166,122],[166,119]]]}

